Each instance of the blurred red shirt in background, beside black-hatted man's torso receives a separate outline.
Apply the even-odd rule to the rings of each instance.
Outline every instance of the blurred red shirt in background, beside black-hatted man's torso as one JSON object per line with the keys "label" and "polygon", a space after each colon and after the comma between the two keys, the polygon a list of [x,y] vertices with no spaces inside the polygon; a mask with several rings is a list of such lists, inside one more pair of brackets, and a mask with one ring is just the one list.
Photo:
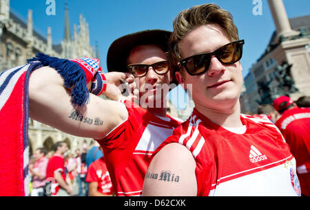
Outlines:
{"label": "blurred red shirt in background, beside black-hatted man's torso", "polygon": [[98,183],[98,191],[101,194],[112,195],[113,194],[113,186],[110,179],[110,174],[107,171],[107,165],[105,164],[104,157],[98,159],[90,164],[88,168],[87,183]]}

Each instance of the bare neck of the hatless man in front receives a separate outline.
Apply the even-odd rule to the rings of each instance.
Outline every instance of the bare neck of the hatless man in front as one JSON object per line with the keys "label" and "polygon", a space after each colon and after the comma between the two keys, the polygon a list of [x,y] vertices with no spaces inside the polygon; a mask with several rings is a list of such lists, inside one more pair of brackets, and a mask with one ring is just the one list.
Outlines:
{"label": "bare neck of the hatless man in front", "polygon": [[196,106],[196,110],[218,126],[224,126],[227,128],[238,128],[242,126],[239,102],[225,110],[205,108],[203,106]]}

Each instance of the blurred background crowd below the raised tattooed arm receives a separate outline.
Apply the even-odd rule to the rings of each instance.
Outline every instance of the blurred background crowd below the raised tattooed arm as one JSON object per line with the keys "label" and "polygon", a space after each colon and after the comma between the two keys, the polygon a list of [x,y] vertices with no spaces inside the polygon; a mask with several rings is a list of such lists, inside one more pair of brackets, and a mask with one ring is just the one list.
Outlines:
{"label": "blurred background crowd below the raised tattooed arm", "polygon": [[[31,196],[112,196],[110,174],[107,172],[103,152],[98,143],[83,152],[68,150],[65,141],[55,143],[48,155],[44,148],[34,150],[29,165],[32,182]],[[76,185],[76,187],[75,187]],[[74,187],[76,192],[74,193]]]}

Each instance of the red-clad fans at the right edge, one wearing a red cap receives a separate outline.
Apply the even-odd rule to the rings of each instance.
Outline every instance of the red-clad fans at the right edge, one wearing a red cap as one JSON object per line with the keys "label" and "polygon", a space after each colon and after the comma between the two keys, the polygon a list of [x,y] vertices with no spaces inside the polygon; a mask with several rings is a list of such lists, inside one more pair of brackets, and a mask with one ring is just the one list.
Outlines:
{"label": "red-clad fans at the right edge, one wearing a red cap", "polygon": [[296,158],[302,195],[310,196],[310,96],[293,101],[289,95],[282,95],[273,104],[260,104],[257,113],[247,114],[266,117],[277,126]]}

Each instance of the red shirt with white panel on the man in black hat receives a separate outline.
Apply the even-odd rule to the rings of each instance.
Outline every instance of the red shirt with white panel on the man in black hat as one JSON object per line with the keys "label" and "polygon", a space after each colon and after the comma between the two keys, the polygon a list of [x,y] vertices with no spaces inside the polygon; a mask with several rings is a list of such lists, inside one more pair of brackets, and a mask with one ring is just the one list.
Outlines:
{"label": "red shirt with white panel on the man in black hat", "polygon": [[157,117],[125,101],[128,118],[107,136],[97,140],[105,155],[116,196],[141,196],[151,155],[181,121]]}

